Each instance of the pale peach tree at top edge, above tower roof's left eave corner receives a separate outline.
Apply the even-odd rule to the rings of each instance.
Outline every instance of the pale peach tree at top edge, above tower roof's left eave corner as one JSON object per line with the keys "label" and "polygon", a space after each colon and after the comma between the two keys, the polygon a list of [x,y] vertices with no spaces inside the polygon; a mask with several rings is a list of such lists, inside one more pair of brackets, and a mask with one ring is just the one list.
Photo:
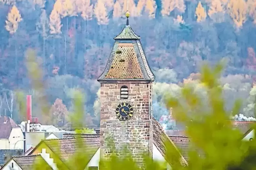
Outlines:
{"label": "pale peach tree at top edge, above tower roof's left eave corner", "polygon": [[109,19],[107,16],[107,9],[105,4],[103,3],[103,0],[98,0],[94,8],[94,13],[97,18],[98,24],[100,25],[108,24]]}

